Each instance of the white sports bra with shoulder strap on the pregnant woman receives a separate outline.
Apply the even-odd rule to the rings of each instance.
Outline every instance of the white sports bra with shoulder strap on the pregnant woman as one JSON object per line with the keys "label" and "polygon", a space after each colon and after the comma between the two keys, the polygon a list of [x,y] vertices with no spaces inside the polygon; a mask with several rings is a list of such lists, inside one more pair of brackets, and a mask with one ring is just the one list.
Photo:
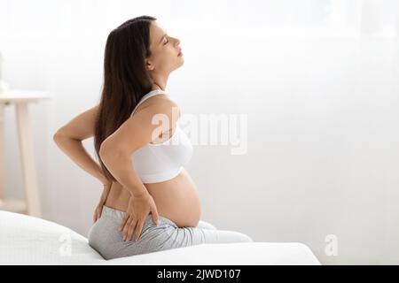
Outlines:
{"label": "white sports bra with shoulder strap on the pregnant woman", "polygon": [[[165,93],[162,89],[153,89],[137,103],[131,115],[139,104],[151,96]],[[131,116],[130,115],[130,116]],[[135,171],[143,183],[157,183],[175,178],[192,157],[192,143],[176,121],[175,133],[166,142],[147,143],[132,154]]]}

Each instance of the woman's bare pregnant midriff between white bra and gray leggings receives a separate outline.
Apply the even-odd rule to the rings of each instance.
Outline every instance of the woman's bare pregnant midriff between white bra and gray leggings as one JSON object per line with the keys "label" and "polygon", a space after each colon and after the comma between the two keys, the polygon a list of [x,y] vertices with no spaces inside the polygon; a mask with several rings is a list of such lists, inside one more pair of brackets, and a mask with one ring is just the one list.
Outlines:
{"label": "woman's bare pregnant midriff between white bra and gray leggings", "polygon": [[[179,227],[197,226],[200,221],[200,197],[192,178],[183,168],[174,179],[144,184],[157,206],[158,214]],[[130,194],[119,183],[113,183],[106,206],[126,211]]]}

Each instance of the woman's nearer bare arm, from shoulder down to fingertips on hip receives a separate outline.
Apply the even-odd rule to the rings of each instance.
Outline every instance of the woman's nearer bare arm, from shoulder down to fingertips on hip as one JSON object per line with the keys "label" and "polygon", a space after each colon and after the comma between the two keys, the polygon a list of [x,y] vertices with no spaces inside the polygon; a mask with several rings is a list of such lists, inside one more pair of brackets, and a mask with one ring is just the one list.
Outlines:
{"label": "woman's nearer bare arm, from shoulder down to fingertips on hip", "polygon": [[[160,100],[159,103],[137,111],[130,116],[113,134],[101,143],[99,156],[113,177],[131,194],[129,206],[121,220],[120,231],[123,240],[130,241],[136,231],[138,241],[145,218],[151,212],[153,222],[158,225],[159,216],[153,197],[148,193],[133,168],[131,155],[140,147],[156,140],[175,123],[176,103],[171,100]],[[160,121],[158,126],[157,121]]]}

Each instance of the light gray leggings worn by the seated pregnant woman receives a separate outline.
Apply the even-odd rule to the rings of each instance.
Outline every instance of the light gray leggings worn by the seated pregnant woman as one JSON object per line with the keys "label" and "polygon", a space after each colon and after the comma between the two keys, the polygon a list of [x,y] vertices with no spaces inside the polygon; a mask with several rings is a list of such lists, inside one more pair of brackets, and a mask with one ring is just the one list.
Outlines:
{"label": "light gray leggings worn by the seated pregnant woman", "polygon": [[196,227],[178,227],[168,218],[159,216],[160,224],[156,226],[151,214],[145,218],[138,241],[136,241],[135,232],[130,241],[123,241],[123,233],[118,231],[118,227],[121,225],[124,215],[124,211],[104,205],[101,217],[90,227],[89,245],[105,259],[183,248],[202,243],[253,241],[244,233],[217,230],[215,226],[205,221],[200,221]]}

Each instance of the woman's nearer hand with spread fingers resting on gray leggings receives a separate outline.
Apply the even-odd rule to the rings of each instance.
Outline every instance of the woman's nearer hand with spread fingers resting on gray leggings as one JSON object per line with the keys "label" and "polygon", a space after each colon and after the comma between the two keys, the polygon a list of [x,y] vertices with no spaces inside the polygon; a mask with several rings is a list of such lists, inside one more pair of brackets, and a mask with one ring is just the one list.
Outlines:
{"label": "woman's nearer hand with spread fingers resting on gray leggings", "polygon": [[125,217],[121,221],[119,231],[123,230],[123,241],[130,241],[133,230],[136,227],[136,241],[140,238],[141,229],[143,229],[145,218],[150,213],[153,215],[153,222],[158,225],[158,210],[150,194],[130,196],[128,209]]}

